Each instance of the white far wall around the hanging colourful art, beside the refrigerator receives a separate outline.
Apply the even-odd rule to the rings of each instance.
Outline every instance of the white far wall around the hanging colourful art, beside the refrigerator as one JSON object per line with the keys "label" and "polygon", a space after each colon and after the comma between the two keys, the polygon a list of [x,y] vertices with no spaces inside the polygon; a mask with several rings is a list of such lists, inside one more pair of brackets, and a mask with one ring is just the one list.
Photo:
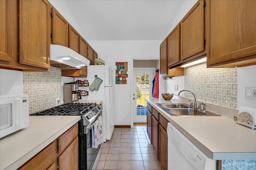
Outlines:
{"label": "white far wall around the hanging colourful art, beside the refrigerator", "polygon": [[97,49],[98,57],[114,70],[116,62],[128,62],[127,84],[114,84],[114,124],[130,125],[133,59],[159,59],[161,41],[90,41],[88,43]]}

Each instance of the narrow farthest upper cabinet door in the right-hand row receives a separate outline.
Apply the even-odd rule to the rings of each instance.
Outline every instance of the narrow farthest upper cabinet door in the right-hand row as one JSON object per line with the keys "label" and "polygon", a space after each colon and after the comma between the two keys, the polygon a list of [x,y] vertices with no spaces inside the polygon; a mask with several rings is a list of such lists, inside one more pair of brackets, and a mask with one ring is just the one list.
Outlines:
{"label": "narrow farthest upper cabinet door in the right-hand row", "polygon": [[167,68],[167,39],[160,44],[160,74],[168,74]]}

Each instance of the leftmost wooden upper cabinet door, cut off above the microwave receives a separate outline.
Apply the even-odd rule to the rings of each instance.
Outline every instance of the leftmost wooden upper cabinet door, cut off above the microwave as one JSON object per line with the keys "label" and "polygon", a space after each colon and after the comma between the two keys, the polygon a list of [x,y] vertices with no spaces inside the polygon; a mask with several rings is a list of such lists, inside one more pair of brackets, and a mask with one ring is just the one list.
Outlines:
{"label": "leftmost wooden upper cabinet door, cut off above the microwave", "polygon": [[18,58],[18,1],[0,0],[0,60]]}

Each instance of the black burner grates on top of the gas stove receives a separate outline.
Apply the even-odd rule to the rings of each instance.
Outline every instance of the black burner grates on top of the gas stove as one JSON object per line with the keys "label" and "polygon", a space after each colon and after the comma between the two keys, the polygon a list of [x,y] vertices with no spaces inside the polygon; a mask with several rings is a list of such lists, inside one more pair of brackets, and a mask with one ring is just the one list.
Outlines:
{"label": "black burner grates on top of the gas stove", "polygon": [[84,115],[96,107],[96,103],[62,104],[31,115]]}

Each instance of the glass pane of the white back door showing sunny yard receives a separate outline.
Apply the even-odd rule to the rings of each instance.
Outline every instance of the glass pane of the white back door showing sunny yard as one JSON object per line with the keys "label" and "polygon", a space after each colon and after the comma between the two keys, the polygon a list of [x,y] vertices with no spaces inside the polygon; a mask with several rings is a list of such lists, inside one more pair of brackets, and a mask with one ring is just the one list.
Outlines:
{"label": "glass pane of the white back door showing sunny yard", "polygon": [[149,74],[136,74],[137,75],[137,116],[147,115],[147,102],[149,99]]}

